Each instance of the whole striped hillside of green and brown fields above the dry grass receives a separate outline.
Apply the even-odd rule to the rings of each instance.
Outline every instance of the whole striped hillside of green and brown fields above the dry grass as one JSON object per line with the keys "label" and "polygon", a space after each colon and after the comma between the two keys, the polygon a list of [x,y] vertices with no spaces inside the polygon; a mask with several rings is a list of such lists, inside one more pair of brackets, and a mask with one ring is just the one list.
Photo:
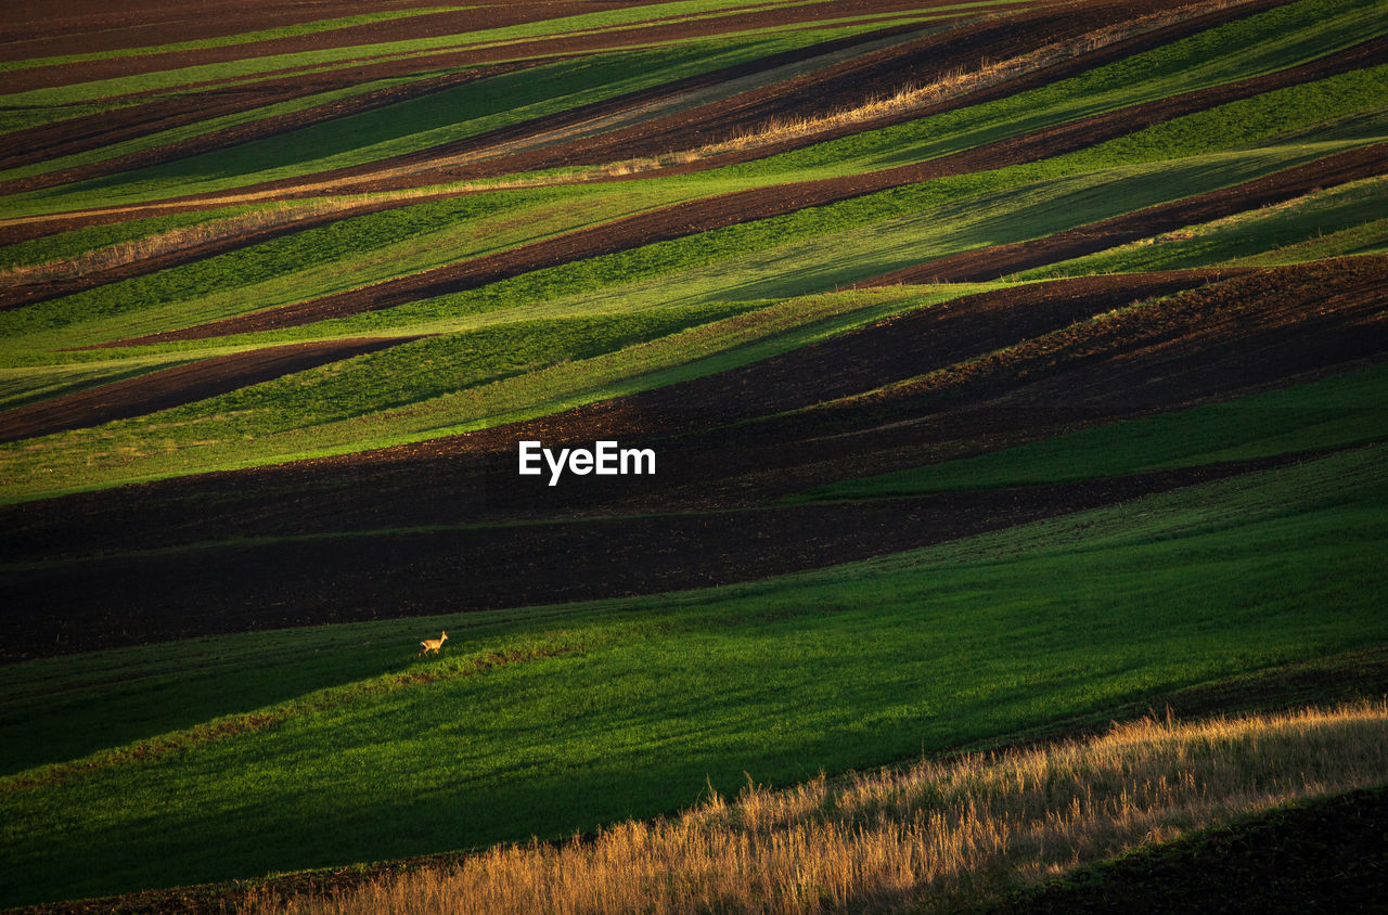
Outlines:
{"label": "whole striped hillside of green and brown fields above the dry grass", "polygon": [[1381,3],[204,6],[0,14],[0,905],[1388,691]]}

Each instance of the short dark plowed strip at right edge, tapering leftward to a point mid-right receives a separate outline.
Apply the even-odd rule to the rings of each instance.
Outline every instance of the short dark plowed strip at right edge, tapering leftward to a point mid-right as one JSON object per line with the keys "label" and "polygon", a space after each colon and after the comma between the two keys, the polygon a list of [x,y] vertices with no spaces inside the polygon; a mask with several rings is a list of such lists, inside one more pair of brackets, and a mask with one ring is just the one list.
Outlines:
{"label": "short dark plowed strip at right edge, tapering leftward to a point mid-right", "polygon": [[1384,172],[1388,172],[1388,143],[1349,150],[1242,185],[1158,204],[1044,239],[951,254],[856,283],[856,287],[998,279]]}

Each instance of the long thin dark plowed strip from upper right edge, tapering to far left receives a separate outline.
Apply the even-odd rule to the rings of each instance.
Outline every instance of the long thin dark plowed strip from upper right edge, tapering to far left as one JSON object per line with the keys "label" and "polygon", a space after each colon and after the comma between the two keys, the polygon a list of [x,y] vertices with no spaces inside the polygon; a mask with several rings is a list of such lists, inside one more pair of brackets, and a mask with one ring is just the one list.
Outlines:
{"label": "long thin dark plowed strip from upper right edge, tapering to far left", "polygon": [[1124,136],[1183,114],[1299,82],[1323,79],[1332,74],[1385,60],[1388,60],[1388,40],[1374,39],[1292,69],[1084,118],[927,162],[902,165],[867,175],[780,185],[697,200],[364,289],[193,328],[117,340],[103,346],[200,340],[232,333],[293,328],[451,292],[476,289],[544,267],[794,212],[901,185],[1059,156]]}

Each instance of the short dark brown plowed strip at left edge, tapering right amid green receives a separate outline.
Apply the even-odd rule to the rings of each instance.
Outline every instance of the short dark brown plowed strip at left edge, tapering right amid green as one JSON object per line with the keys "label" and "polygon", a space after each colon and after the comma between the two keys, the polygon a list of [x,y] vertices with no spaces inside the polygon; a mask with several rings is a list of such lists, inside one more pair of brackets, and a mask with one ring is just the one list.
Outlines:
{"label": "short dark brown plowed strip at left edge, tapering right amid green", "polygon": [[0,442],[143,417],[414,339],[418,337],[357,337],[294,343],[178,365],[0,412]]}

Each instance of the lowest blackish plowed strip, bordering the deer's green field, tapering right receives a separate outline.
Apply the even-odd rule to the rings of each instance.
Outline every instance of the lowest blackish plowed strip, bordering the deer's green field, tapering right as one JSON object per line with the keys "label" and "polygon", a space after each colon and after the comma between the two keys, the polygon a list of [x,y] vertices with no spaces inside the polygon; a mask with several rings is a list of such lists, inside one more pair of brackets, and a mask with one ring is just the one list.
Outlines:
{"label": "lowest blackish plowed strip, bordering the deer's green field, tapering right", "polygon": [[1031,490],[112,558],[10,571],[0,661],[210,633],[759,579],[1081,511],[1270,462]]}

